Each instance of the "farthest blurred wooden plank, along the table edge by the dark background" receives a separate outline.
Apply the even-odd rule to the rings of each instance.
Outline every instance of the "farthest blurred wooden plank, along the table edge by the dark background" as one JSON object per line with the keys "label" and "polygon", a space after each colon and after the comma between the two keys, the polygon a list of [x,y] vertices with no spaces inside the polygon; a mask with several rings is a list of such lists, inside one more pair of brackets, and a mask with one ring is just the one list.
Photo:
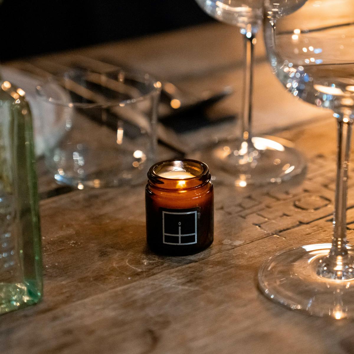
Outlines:
{"label": "farthest blurred wooden plank, along the table edge by the dark background", "polygon": [[[259,33],[256,57],[264,60],[263,35]],[[190,45],[186,45],[189,43]],[[212,45],[211,45],[212,44]],[[68,56],[111,58],[114,62],[149,72],[161,79],[174,80],[186,76],[204,76],[215,70],[225,70],[242,63],[242,35],[239,29],[222,23],[150,35],[88,48],[41,56],[58,64]],[[213,58],[210,60],[210,58]]]}

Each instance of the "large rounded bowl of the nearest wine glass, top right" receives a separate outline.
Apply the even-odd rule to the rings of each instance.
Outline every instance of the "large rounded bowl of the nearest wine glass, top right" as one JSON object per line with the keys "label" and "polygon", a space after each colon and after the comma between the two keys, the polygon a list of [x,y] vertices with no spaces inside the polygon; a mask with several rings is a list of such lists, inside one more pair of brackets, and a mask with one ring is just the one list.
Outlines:
{"label": "large rounded bowl of the nearest wine glass, top right", "polygon": [[280,17],[276,29],[269,21],[264,26],[269,61],[282,84],[294,96],[332,110],[353,105],[343,98],[354,93],[354,4],[343,1],[346,6],[309,1],[293,15]]}

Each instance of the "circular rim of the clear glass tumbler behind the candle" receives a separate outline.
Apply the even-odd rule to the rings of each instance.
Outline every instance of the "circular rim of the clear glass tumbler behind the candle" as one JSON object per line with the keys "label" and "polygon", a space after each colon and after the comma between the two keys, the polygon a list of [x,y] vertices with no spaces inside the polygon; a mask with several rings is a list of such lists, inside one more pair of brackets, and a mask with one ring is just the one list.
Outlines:
{"label": "circular rim of the clear glass tumbler behind the candle", "polygon": [[[64,90],[66,90],[65,87],[63,87],[62,85],[63,80],[70,80],[70,78],[75,78],[75,77],[77,78],[80,75],[82,76],[82,78],[85,78],[85,76],[89,74],[98,74],[98,75],[106,75],[106,76],[116,75],[117,77],[122,75],[124,78],[132,79],[144,84],[146,87],[148,87],[148,91],[134,98],[128,98],[128,99],[109,99],[109,98],[106,99],[105,98],[104,101],[102,102],[92,102],[92,103],[75,102],[72,99],[69,100],[65,100],[63,98],[57,99],[52,97],[50,94],[46,94],[44,92],[44,89],[46,87],[50,89],[51,86],[52,89],[55,88],[56,90],[58,90],[59,88],[63,88]],[[117,80],[117,82],[119,82],[119,80]],[[125,105],[144,101],[145,99],[151,97],[152,95],[158,94],[160,90],[161,90],[161,82],[156,80],[150,74],[145,74],[133,70],[125,70],[119,67],[117,67],[115,70],[107,70],[104,72],[97,72],[95,70],[89,70],[89,69],[87,70],[72,69],[72,70],[68,70],[67,72],[63,72],[60,75],[51,76],[50,78],[42,80],[36,86],[36,94],[42,102],[50,103],[53,105],[59,105],[62,107],[69,107],[69,108],[108,108],[116,105],[119,105],[120,107],[124,107]]]}

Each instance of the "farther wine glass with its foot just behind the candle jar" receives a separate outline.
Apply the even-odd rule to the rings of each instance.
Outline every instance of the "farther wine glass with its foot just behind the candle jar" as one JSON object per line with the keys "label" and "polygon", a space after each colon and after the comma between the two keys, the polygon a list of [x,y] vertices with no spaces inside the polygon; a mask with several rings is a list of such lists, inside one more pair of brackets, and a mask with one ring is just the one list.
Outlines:
{"label": "farther wine glass with its foot just behind the candle jar", "polygon": [[[190,157],[205,161],[212,170],[222,171],[224,183],[246,187],[249,184],[280,183],[304,170],[303,156],[284,139],[252,135],[253,50],[262,24],[262,0],[196,0],[212,17],[240,28],[245,47],[242,134],[240,139],[202,147]],[[289,3],[291,2],[291,6]],[[278,13],[292,11],[304,0],[280,0]],[[276,16],[274,15],[274,16]],[[236,127],[235,127],[236,130]]]}

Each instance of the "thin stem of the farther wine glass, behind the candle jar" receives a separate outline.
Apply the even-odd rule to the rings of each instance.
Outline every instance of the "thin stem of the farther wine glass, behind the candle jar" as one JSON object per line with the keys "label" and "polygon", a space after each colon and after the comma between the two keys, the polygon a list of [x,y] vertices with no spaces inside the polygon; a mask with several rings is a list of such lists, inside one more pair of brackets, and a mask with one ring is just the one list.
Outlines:
{"label": "thin stem of the farther wine glass, behind the candle jar", "polygon": [[256,44],[255,35],[247,29],[243,35],[245,45],[244,97],[242,102],[242,139],[251,143],[252,125],[252,91],[253,91],[253,51]]}

